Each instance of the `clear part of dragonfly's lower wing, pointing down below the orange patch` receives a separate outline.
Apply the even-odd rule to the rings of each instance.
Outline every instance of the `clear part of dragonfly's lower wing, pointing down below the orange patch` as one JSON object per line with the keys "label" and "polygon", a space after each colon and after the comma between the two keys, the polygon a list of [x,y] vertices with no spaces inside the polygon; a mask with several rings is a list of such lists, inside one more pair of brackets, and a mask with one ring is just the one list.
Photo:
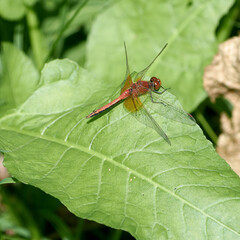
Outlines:
{"label": "clear part of dragonfly's lower wing, pointing down below the orange patch", "polygon": [[151,114],[147,111],[147,109],[142,105],[141,109],[136,112],[133,112],[135,118],[140,122],[154,129],[169,145],[171,142],[167,136],[167,134],[162,130],[159,124],[155,121],[155,119],[151,116]]}

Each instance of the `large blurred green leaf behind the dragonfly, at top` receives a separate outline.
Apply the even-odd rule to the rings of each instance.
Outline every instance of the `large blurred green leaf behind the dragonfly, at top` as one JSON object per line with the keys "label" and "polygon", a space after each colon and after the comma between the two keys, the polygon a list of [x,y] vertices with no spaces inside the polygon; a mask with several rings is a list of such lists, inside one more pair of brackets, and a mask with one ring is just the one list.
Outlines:
{"label": "large blurred green leaf behind the dragonfly, at top", "polygon": [[[87,69],[97,81],[118,85],[125,71],[123,41],[130,66],[140,71],[163,45],[168,48],[150,69],[171,87],[186,110],[206,97],[202,75],[217,49],[215,30],[233,0],[119,1],[93,24],[88,42]],[[109,66],[111,63],[111,67]],[[100,86],[102,88],[103,86]]]}

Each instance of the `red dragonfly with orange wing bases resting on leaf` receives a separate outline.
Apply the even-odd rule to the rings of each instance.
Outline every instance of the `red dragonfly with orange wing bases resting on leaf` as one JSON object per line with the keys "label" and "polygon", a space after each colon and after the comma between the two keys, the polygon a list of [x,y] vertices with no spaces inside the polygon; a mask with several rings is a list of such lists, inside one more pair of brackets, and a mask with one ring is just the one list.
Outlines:
{"label": "red dragonfly with orange wing bases resting on leaf", "polygon": [[183,109],[173,106],[173,104],[163,98],[164,93],[168,89],[162,86],[162,82],[159,78],[151,77],[149,81],[144,80],[145,74],[166,47],[167,44],[164,45],[161,51],[146,68],[138,73],[133,72],[130,74],[127,48],[124,43],[126,75],[122,83],[120,96],[99,109],[94,110],[87,115],[86,118],[92,118],[124,101],[125,108],[132,113],[139,122],[154,129],[169,145],[171,145],[171,141],[169,140],[167,134],[159,126],[146,107],[146,103],[149,103],[150,99],[151,104],[161,104],[161,107],[163,108],[162,112],[166,118],[194,125],[196,121],[191,114],[185,112]]}

